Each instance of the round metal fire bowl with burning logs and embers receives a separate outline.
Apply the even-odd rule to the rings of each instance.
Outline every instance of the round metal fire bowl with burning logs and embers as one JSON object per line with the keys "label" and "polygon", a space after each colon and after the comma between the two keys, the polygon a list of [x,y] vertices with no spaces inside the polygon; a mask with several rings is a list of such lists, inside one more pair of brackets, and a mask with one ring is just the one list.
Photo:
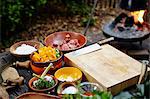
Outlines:
{"label": "round metal fire bowl with burning logs and embers", "polygon": [[106,36],[113,36],[116,40],[137,42],[150,35],[150,25],[144,22],[146,10],[133,11],[128,14],[121,13],[103,27]]}

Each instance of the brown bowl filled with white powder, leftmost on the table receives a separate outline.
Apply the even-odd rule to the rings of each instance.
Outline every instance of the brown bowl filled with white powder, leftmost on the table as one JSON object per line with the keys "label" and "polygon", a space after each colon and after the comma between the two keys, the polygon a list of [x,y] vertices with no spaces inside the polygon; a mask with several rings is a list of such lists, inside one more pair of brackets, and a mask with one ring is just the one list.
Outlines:
{"label": "brown bowl filled with white powder, leftmost on the table", "polygon": [[38,41],[20,41],[10,47],[10,53],[16,57],[29,57],[31,53],[37,51],[42,44]]}

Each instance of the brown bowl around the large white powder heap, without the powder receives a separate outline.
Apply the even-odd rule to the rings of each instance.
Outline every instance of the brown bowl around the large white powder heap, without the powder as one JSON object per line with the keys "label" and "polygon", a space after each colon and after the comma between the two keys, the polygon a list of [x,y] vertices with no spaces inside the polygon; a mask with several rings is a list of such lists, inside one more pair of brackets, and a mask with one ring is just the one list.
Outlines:
{"label": "brown bowl around the large white powder heap, without the powder", "polygon": [[10,53],[13,54],[16,57],[29,57],[29,55],[31,53],[30,54],[17,54],[17,53],[15,53],[16,48],[21,46],[22,44],[27,44],[27,45],[33,46],[36,49],[38,49],[42,46],[42,44],[40,42],[37,42],[37,41],[20,41],[20,42],[17,42],[15,44],[13,44],[10,47]]}

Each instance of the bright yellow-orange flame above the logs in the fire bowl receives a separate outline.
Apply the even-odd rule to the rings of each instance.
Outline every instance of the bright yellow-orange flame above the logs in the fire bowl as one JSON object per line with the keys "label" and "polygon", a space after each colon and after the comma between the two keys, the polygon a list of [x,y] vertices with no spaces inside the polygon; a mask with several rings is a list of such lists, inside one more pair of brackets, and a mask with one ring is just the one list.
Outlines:
{"label": "bright yellow-orange flame above the logs in the fire bowl", "polygon": [[145,10],[131,12],[131,15],[134,17],[134,22],[135,23],[138,23],[138,22],[143,23],[144,22],[144,20],[143,20],[144,13],[145,13]]}

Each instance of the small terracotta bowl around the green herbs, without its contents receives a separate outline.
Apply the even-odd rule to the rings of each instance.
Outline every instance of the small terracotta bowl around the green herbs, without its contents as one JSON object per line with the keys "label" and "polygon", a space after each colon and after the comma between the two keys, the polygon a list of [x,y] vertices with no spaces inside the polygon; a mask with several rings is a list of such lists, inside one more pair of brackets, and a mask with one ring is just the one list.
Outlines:
{"label": "small terracotta bowl around the green herbs, without its contents", "polygon": [[31,78],[31,79],[29,80],[29,83],[28,83],[28,84],[29,84],[29,87],[30,87],[33,91],[37,91],[37,92],[52,91],[52,90],[57,86],[58,80],[57,80],[54,76],[52,76],[52,75],[51,75],[51,77],[55,80],[55,84],[54,84],[54,86],[52,86],[52,87],[50,87],[50,88],[47,88],[47,89],[36,89],[36,88],[34,88],[34,87],[33,87],[33,82],[38,79],[37,77],[33,77],[33,78]]}

